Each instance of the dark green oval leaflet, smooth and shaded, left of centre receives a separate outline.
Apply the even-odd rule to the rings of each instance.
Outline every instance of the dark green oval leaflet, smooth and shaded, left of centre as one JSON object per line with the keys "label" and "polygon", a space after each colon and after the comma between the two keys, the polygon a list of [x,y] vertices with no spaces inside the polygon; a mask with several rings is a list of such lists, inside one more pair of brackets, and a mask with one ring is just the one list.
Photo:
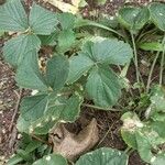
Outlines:
{"label": "dark green oval leaflet, smooth and shaded, left of centre", "polygon": [[53,90],[59,90],[66,82],[69,63],[65,56],[53,56],[46,67],[46,80]]}

